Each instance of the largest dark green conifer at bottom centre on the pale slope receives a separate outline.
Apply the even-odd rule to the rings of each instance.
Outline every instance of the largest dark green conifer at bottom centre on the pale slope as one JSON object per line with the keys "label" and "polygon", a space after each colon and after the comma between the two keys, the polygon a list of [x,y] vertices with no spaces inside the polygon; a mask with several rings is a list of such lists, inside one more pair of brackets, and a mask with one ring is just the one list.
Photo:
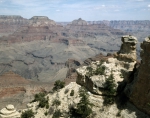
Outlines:
{"label": "largest dark green conifer at bottom centre on the pale slope", "polygon": [[81,97],[77,108],[70,107],[70,115],[74,118],[86,118],[92,113],[93,104],[89,101],[89,95],[84,88],[80,88],[79,96]]}

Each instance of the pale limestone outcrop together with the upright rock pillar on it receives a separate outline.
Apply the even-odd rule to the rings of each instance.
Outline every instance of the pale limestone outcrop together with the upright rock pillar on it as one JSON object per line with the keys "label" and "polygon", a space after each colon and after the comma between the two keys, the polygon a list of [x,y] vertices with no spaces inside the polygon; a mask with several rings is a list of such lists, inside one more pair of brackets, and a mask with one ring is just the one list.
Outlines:
{"label": "pale limestone outcrop together with the upright rock pillar on it", "polygon": [[[92,62],[91,65],[77,69],[78,78],[76,82],[85,86],[93,93],[105,95],[106,79],[113,74],[116,85],[121,81],[129,81],[129,72],[133,71],[136,63],[136,42],[134,36],[123,36],[120,51],[115,55],[116,58],[106,58],[106,62]],[[101,59],[103,60],[103,59]],[[97,71],[103,74],[95,74]],[[116,87],[117,87],[116,86]]]}

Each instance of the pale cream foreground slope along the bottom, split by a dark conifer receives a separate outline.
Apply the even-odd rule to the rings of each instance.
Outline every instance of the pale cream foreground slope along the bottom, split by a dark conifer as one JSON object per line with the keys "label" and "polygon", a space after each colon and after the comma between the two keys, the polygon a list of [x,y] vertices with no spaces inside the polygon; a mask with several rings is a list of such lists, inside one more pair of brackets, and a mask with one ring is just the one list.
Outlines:
{"label": "pale cream foreground slope along the bottom, split by a dark conifer", "polygon": [[[24,109],[32,109],[35,113],[35,118],[52,118],[54,112],[57,110],[60,110],[61,118],[67,118],[69,117],[69,108],[71,106],[75,107],[77,103],[80,100],[79,97],[79,89],[80,85],[76,84],[75,82],[71,82],[69,85],[65,86],[64,88],[60,89],[58,92],[55,93],[49,93],[45,96],[45,98],[49,98],[48,104],[49,108],[39,108],[38,102],[32,102],[27,104],[28,108]],[[71,96],[71,91],[74,91],[74,95]],[[128,103],[127,107],[123,110],[119,110],[117,108],[116,104],[108,106],[103,105],[103,98],[99,95],[94,95],[90,92],[89,94],[89,100],[93,104],[92,110],[93,115],[91,115],[92,118],[148,118],[147,115],[140,112],[138,109],[136,109],[132,104]],[[56,108],[53,106],[53,101],[59,100],[60,105]],[[131,111],[130,111],[131,110]],[[120,113],[120,116],[117,116],[118,112]],[[45,115],[47,113],[47,115]]]}

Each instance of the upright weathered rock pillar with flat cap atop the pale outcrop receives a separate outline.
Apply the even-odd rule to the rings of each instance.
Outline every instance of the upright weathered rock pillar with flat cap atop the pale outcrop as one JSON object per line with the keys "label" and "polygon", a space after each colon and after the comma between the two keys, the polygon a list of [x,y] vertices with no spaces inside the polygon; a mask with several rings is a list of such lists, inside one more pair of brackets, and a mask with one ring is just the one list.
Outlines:
{"label": "upright weathered rock pillar with flat cap atop the pale outcrop", "polygon": [[136,44],[137,38],[131,35],[126,35],[122,37],[122,45],[115,55],[118,60],[125,62],[134,62],[136,61]]}

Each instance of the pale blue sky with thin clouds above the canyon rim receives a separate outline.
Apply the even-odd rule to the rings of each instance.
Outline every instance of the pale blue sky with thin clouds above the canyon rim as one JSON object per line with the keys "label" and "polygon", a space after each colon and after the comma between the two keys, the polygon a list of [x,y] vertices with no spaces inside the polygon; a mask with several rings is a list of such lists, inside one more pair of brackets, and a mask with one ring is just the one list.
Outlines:
{"label": "pale blue sky with thin clouds above the canyon rim", "polygon": [[150,0],[0,0],[0,15],[55,21],[150,20]]}

